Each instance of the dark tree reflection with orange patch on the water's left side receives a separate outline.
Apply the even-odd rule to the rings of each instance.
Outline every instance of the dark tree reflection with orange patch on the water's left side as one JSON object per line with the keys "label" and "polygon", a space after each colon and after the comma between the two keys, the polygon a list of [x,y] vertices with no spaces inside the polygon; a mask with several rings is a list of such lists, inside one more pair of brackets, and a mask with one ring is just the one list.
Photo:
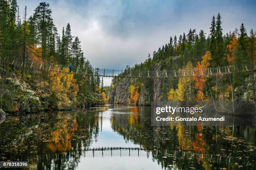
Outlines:
{"label": "dark tree reflection with orange patch on the water's left side", "polygon": [[[28,160],[31,168],[74,169],[99,132],[98,111],[28,115],[0,127],[0,160]],[[8,152],[5,152],[8,151]],[[69,158],[69,159],[67,159]]]}

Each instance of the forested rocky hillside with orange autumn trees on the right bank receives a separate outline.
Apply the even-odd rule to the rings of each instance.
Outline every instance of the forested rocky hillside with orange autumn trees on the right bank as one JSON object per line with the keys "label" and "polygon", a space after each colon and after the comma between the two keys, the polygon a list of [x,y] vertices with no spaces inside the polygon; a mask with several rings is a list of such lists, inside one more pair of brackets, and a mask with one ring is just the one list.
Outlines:
{"label": "forested rocky hillside with orange autumn trees on the right bank", "polygon": [[[253,29],[223,34],[220,13],[213,16],[210,35],[204,30],[189,29],[174,35],[145,62],[130,70],[189,70],[229,66],[236,71],[228,75],[181,78],[115,78],[110,103],[150,105],[157,100],[255,100],[256,39]],[[248,34],[247,34],[248,32]],[[235,66],[235,67],[234,67]],[[243,71],[248,70],[248,71]]]}

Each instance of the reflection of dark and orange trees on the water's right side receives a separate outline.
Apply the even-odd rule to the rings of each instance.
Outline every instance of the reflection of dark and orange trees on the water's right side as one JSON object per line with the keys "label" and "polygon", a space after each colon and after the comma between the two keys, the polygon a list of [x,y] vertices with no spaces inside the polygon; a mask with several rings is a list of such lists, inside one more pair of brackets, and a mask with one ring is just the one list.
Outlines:
{"label": "reflection of dark and orange trees on the water's right side", "polygon": [[[232,134],[254,134],[255,128],[236,127],[203,127],[203,126],[151,126],[151,112],[149,107],[136,107],[129,110],[129,114],[115,114],[111,117],[114,131],[123,135],[125,140],[141,145],[151,150],[153,160],[162,168],[173,169],[213,169],[246,165],[253,169],[253,162],[248,158],[254,157],[253,152],[244,152],[251,148],[255,151],[255,144],[245,140],[232,138]],[[247,133],[244,131],[248,130]],[[244,138],[244,137],[243,137]],[[250,138],[250,137],[246,137]],[[243,152],[241,152],[243,150]],[[228,157],[229,156],[229,157]],[[230,162],[228,162],[228,159]],[[234,168],[233,168],[234,169]]]}

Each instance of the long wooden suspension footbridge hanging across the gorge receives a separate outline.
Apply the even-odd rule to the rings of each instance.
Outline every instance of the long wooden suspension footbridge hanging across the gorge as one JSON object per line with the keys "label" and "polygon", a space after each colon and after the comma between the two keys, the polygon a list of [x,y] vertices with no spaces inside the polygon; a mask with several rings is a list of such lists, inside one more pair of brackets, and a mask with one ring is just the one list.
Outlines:
{"label": "long wooden suspension footbridge hanging across the gorge", "polygon": [[[11,65],[18,67],[23,66],[23,62],[13,60]],[[68,74],[69,69],[67,66],[57,65],[49,62],[39,62],[34,60],[27,60],[24,64],[26,69],[35,69],[43,71],[54,71]],[[256,68],[253,69],[253,71]],[[0,69],[0,71],[3,71]],[[241,67],[236,66],[224,66],[224,67],[209,67],[209,68],[192,68],[192,69],[178,69],[178,70],[115,70],[115,69],[100,69],[94,68],[93,72],[89,72],[87,68],[80,68],[79,66],[73,66],[72,73],[77,75],[94,75],[100,77],[133,77],[133,78],[179,78],[179,77],[202,77],[202,76],[214,76],[225,75],[234,72],[248,72],[251,71],[246,65]]]}

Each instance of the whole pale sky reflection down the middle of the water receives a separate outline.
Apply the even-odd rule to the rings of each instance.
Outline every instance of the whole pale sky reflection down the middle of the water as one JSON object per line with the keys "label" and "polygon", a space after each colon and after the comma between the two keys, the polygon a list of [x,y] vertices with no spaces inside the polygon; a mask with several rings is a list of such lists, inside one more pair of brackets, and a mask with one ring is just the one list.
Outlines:
{"label": "whole pale sky reflection down the middle of the water", "polygon": [[[122,135],[114,132],[111,128],[110,118],[113,114],[129,114],[128,111],[131,107],[119,107],[111,108],[104,112],[99,113],[99,129],[102,127],[102,131],[98,133],[97,142],[94,140],[90,148],[101,147],[122,147],[122,148],[140,148],[139,145],[134,145],[131,141],[125,142]],[[102,117],[101,117],[102,116]],[[102,126],[101,126],[102,118]],[[121,156],[120,156],[121,155]],[[144,150],[131,150],[129,156],[129,150],[112,150],[112,156],[110,150],[95,151],[93,156],[92,151],[87,151],[85,157],[80,157],[80,163],[78,164],[78,170],[84,170],[86,168],[95,170],[161,170],[161,166],[156,161],[152,161],[151,153],[147,153]]]}

